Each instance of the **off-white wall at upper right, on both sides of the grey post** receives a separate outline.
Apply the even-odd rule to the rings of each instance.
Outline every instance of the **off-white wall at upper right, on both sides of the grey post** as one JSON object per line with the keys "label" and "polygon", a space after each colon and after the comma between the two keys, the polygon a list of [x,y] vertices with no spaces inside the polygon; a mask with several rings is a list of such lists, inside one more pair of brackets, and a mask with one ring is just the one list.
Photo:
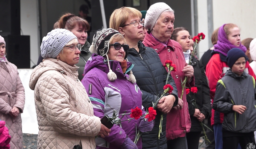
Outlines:
{"label": "off-white wall at upper right, on both sides of the grey post", "polygon": [[[224,23],[234,23],[240,27],[241,40],[256,38],[255,0],[213,0],[213,26],[217,29]],[[198,32],[208,33],[207,1],[197,0]],[[209,49],[208,36],[199,44],[199,58]]]}

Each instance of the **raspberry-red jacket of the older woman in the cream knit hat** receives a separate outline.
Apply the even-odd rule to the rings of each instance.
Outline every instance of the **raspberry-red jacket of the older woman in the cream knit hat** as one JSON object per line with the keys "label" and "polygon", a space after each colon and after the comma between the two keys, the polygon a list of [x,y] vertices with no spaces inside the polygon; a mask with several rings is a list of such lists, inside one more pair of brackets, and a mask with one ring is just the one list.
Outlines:
{"label": "raspberry-red jacket of the older woman in the cream knit hat", "polygon": [[[159,41],[157,41],[150,34],[146,34],[145,39],[143,41],[145,46],[151,47],[155,49],[158,53],[161,62],[164,64],[165,60],[172,60],[176,65],[176,72],[171,72],[171,75],[175,81],[176,87],[178,89],[178,96],[180,98],[182,93],[181,80],[184,80],[184,73],[181,72],[185,67],[185,58],[183,55],[181,45],[174,41],[170,40],[167,43],[167,46],[163,45]],[[187,87],[193,87],[195,85],[195,78],[186,84]],[[190,131],[191,121],[188,113],[188,103],[186,99],[186,91],[184,89],[184,94],[182,96],[183,100],[183,109],[175,110],[171,109],[171,111],[167,114],[166,120],[166,138],[167,140],[172,140],[179,137],[184,137],[187,132]]]}

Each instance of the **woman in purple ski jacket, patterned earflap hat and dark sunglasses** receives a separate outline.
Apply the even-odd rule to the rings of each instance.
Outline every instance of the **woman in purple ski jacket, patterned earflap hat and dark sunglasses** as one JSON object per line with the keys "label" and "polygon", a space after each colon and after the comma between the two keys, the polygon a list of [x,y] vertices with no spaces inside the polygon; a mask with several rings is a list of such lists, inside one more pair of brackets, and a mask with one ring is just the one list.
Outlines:
{"label": "woman in purple ski jacket, patterned earflap hat and dark sunglasses", "polygon": [[[112,116],[114,111],[117,115],[131,113],[131,109],[136,107],[145,113],[142,92],[131,71],[134,65],[126,59],[128,49],[123,35],[114,29],[99,29],[93,36],[89,50],[94,54],[84,67],[82,83],[93,104],[95,116]],[[119,118],[127,120],[127,117],[131,118],[130,115]],[[96,138],[97,149],[141,149],[141,138],[137,144],[133,143],[136,129],[151,131],[154,123],[140,118],[123,121],[121,125],[113,126],[109,136]]]}

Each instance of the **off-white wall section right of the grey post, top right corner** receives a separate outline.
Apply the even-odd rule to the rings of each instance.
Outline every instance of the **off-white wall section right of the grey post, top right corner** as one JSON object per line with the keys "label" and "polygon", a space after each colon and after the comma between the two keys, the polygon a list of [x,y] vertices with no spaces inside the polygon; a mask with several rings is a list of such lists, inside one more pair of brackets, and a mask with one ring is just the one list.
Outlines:
{"label": "off-white wall section right of the grey post, top right corner", "polygon": [[241,29],[241,40],[256,38],[255,0],[213,0],[214,29],[224,23],[237,24]]}

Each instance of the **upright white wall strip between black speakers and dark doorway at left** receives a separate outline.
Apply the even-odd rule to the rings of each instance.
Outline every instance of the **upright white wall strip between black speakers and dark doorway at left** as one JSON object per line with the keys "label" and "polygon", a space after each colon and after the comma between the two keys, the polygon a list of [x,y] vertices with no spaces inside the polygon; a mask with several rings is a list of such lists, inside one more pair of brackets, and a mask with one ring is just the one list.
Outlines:
{"label": "upright white wall strip between black speakers and dark doorway at left", "polygon": [[[30,59],[37,64],[39,56],[37,0],[20,0],[20,28],[30,35]],[[22,32],[20,33],[22,35]],[[41,43],[40,43],[41,44]],[[30,68],[34,64],[30,61]]]}

